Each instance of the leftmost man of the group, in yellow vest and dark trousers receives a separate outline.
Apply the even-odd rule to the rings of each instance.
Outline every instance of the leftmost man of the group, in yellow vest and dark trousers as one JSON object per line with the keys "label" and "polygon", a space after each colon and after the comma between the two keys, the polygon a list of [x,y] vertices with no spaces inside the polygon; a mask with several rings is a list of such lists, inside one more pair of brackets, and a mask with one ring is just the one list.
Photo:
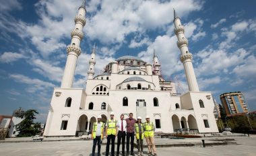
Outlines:
{"label": "leftmost man of the group, in yellow vest and dark trousers", "polygon": [[92,139],[94,140],[92,146],[92,156],[95,155],[96,144],[98,145],[98,156],[100,156],[100,142],[103,139],[104,123],[101,121],[101,115],[98,116],[97,121],[92,127]]}

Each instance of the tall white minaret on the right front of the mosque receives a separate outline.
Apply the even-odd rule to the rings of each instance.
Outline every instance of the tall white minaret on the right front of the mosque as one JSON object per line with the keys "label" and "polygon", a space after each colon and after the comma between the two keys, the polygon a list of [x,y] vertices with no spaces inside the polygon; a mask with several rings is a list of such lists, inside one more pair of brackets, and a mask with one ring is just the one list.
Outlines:
{"label": "tall white minaret on the right front of the mosque", "polygon": [[[174,10],[174,9],[173,9]],[[177,35],[178,41],[177,46],[181,50],[181,62],[183,63],[185,74],[187,77],[187,83],[189,84],[189,91],[197,91],[199,92],[199,88],[197,85],[197,78],[195,77],[195,72],[192,64],[193,56],[189,52],[187,38],[184,35],[184,27],[181,25],[181,19],[177,16],[174,10],[174,31]]]}

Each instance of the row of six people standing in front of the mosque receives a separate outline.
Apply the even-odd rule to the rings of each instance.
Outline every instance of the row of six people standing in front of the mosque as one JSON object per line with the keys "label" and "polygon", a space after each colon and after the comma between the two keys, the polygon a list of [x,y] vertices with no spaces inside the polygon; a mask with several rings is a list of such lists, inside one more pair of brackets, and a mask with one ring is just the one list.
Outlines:
{"label": "row of six people standing in front of the mosque", "polygon": [[[106,123],[102,123],[101,116],[98,116],[97,122],[92,127],[92,156],[95,155],[96,145],[98,145],[98,156],[100,155],[100,143],[106,136],[106,156],[109,155],[109,147],[111,142],[111,156],[115,156],[115,138],[117,137],[117,155],[119,156],[119,147],[122,141],[122,155],[125,155],[125,136],[126,136],[126,155],[134,155],[133,142],[134,137],[137,139],[138,155],[143,155],[143,139],[146,138],[148,144],[148,155],[156,156],[156,146],[154,144],[154,124],[150,121],[150,117],[146,116],[146,123],[141,123],[141,116],[133,119],[133,113],[129,114],[129,118],[124,119],[121,114],[120,120],[114,119],[114,112],[110,113],[110,119]],[[130,150],[131,143],[131,150]],[[131,151],[131,153],[129,153]]]}

